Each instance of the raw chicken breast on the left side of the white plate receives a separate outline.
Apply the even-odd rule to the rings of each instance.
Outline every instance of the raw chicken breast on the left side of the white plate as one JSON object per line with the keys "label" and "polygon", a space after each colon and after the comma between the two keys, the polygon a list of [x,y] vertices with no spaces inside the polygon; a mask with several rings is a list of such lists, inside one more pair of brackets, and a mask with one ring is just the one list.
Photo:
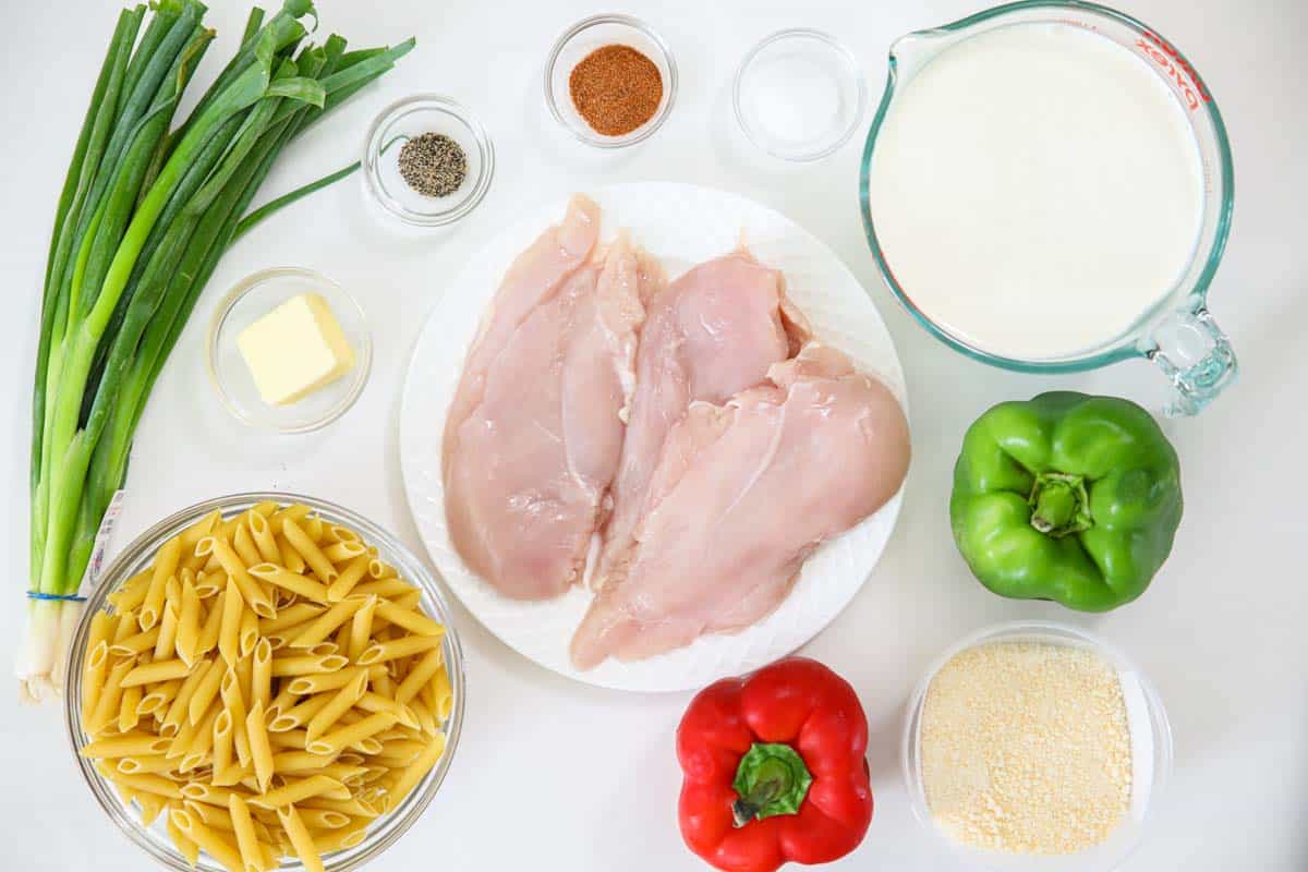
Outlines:
{"label": "raw chicken breast on the left side of the white plate", "polygon": [[489,363],[445,476],[450,537],[501,594],[539,600],[581,579],[634,384],[642,259],[620,238],[538,303]]}

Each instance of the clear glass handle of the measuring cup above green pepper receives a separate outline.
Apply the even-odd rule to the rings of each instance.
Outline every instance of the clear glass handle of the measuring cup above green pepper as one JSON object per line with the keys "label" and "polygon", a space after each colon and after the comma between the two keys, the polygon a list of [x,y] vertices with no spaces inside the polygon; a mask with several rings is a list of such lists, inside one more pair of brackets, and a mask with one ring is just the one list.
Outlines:
{"label": "clear glass handle of the measuring cup above green pepper", "polygon": [[1151,331],[1148,341],[1144,356],[1176,388],[1164,409],[1169,418],[1198,414],[1240,373],[1231,343],[1202,306],[1172,312]]}

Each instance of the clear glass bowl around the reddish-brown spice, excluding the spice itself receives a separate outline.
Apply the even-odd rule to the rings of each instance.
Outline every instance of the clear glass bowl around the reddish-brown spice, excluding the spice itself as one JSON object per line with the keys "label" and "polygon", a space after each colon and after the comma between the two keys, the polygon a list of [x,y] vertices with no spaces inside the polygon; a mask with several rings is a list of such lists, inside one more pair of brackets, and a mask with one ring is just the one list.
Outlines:
{"label": "clear glass bowl around the reddish-brown spice, excluding the spice itself", "polygon": [[[629,46],[658,67],[663,77],[663,98],[650,120],[623,136],[596,133],[581,116],[572,101],[568,77],[586,55],[603,46]],[[624,148],[649,139],[663,126],[676,101],[676,61],[663,38],[640,18],[623,14],[600,14],[582,18],[564,31],[545,61],[545,105],[564,129],[595,148]]]}

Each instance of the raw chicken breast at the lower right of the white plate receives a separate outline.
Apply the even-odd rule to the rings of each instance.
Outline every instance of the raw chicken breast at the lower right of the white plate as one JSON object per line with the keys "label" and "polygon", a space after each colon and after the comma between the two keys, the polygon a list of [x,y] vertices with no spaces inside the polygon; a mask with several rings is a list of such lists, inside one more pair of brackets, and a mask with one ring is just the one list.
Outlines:
{"label": "raw chicken breast at the lower right of the white plate", "polygon": [[573,637],[578,668],[756,624],[818,545],[899,490],[908,422],[880,382],[816,344],[768,379],[725,405],[693,403],[668,433],[628,571]]}

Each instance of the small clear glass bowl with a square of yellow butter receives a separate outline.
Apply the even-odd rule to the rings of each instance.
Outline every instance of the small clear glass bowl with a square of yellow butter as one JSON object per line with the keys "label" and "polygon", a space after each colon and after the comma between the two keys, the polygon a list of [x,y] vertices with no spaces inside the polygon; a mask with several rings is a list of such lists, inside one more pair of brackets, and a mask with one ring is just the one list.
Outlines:
{"label": "small clear glass bowl with a square of yellow butter", "polygon": [[241,421],[309,433],[344,414],[368,382],[373,340],[344,288],[298,267],[237,282],[213,312],[209,379]]}

